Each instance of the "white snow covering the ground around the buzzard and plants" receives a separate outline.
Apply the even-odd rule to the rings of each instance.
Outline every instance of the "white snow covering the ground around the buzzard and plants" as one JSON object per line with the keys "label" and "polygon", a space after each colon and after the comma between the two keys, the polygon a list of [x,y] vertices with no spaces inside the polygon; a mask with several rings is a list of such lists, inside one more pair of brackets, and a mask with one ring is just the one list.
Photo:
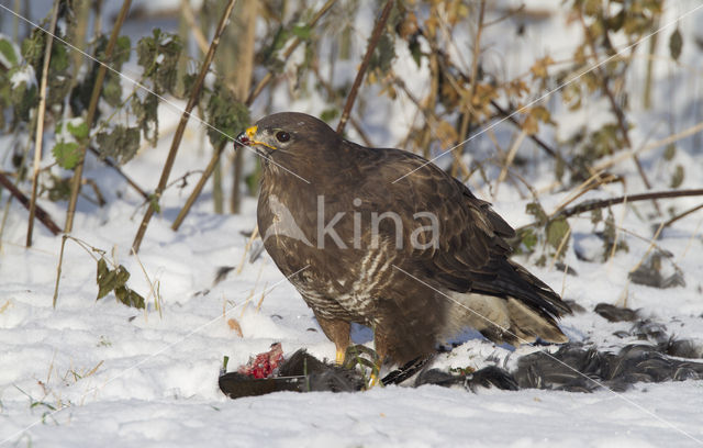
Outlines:
{"label": "white snow covering the ground around the buzzard and plants", "polygon": [[[672,3],[667,2],[671,5],[667,20],[696,4],[682,1],[673,7]],[[689,32],[684,35],[693,36],[695,24],[701,20],[701,14],[685,18],[681,27]],[[567,56],[572,49],[566,43],[563,47],[542,47],[546,43],[562,42],[554,38],[559,32],[563,30],[547,29],[542,31],[544,34],[537,33],[539,47],[536,45],[531,55],[542,56],[543,51],[548,51]],[[700,52],[696,59],[692,38],[687,42],[689,46],[684,46],[684,51],[689,53],[682,58],[698,70],[700,78]],[[527,44],[521,41],[520,45],[524,48]],[[518,64],[514,54],[512,56],[510,60]],[[557,59],[557,55],[554,57]],[[528,66],[529,61],[522,64]],[[676,83],[671,68],[659,67],[659,70],[658,79]],[[419,89],[421,76],[413,78]],[[672,90],[660,93],[659,100],[669,98],[668,104],[688,104],[684,101],[691,96],[701,97],[700,87],[696,89],[689,98]],[[372,97],[369,94],[367,101]],[[314,99],[306,103],[303,100],[284,103],[284,99],[280,92],[274,98],[276,111],[320,112],[322,108]],[[387,108],[379,109],[387,121],[381,127],[398,130],[405,123],[403,107]],[[260,116],[263,109],[263,104],[255,104],[254,112]],[[144,149],[125,167],[125,171],[146,188],[156,184],[170,144],[168,130],[172,132],[179,119],[178,111],[169,107],[163,105],[159,112],[161,130],[166,132],[158,147]],[[364,116],[362,122],[378,123],[380,113]],[[679,131],[696,120],[695,116],[685,120],[673,116],[679,120],[676,123]],[[643,117],[643,123],[647,123],[646,120]],[[646,137],[667,136],[671,130],[666,127],[657,127],[654,137]],[[399,135],[371,124],[369,130],[375,142],[392,145],[398,143],[393,138],[404,135],[406,127],[398,131]],[[638,142],[647,131],[634,131]],[[204,143],[203,133],[202,127],[189,125],[172,179],[205,166],[210,146]],[[0,147],[7,144],[7,138],[0,136]],[[688,173],[682,188],[700,188],[700,177],[695,175],[703,170],[700,148],[693,148],[688,139],[681,143],[680,149],[678,157],[685,164]],[[44,165],[51,163],[49,157]],[[666,189],[669,176],[665,168],[657,168],[660,157],[661,152],[650,152],[643,156],[643,161],[650,168],[649,172],[656,173],[656,188]],[[636,190],[634,167],[617,169],[634,180],[628,193],[641,191]],[[252,232],[256,224],[256,200],[248,198],[241,215],[215,215],[212,189],[208,186],[181,228],[172,232],[170,223],[198,176],[189,177],[183,188],[174,186],[167,190],[161,200],[161,215],[152,221],[140,255],[135,257],[129,250],[144,212],[144,208],[140,208],[142,198],[113,170],[94,159],[88,160],[86,177],[98,181],[108,204],[97,208],[79,201],[71,235],[86,245],[105,250],[108,259],[125,266],[132,275],[129,287],[147,298],[146,311],[127,307],[113,294],[96,301],[96,262],[89,250],[74,240],[66,245],[54,309],[60,237],[52,236],[37,224],[34,245],[24,248],[27,215],[16,201],[12,203],[0,253],[0,446],[703,445],[701,381],[639,383],[623,393],[493,389],[470,393],[426,385],[375,388],[362,393],[282,392],[239,400],[225,397],[217,388],[225,356],[230,358],[228,370],[233,370],[252,355],[266,351],[275,341],[282,343],[286,354],[306,348],[319,358],[333,358],[334,345],[322,334],[312,311],[266,254],[253,264],[245,260],[241,272],[233,271],[213,285],[219,267],[239,266],[244,259],[248,240],[244,234]],[[540,182],[538,171],[529,176],[536,183]],[[621,187],[610,187],[582,199],[622,192]],[[477,194],[493,201],[495,210],[514,226],[531,221],[524,212],[526,201],[516,201],[510,184],[501,187],[498,198],[491,198],[488,189],[479,189]],[[566,194],[547,194],[540,200],[550,211]],[[3,194],[3,203],[5,198]],[[696,205],[698,201],[681,199],[676,204],[681,211]],[[41,204],[63,222],[65,202],[42,200]],[[632,210],[623,213],[623,210],[615,209],[618,225],[651,237],[651,223],[641,219],[646,213]],[[693,214],[665,231],[657,240],[658,246],[673,255],[672,259],[684,275],[685,287],[662,290],[628,282],[628,271],[639,264],[649,247],[649,240],[631,234],[621,234],[629,251],[618,251],[605,264],[579,259],[574,247],[589,255],[601,245],[592,236],[588,215],[570,220],[573,233],[566,261],[576,276],[566,276],[550,266],[528,265],[528,268],[565,299],[587,310],[561,321],[572,340],[593,344],[600,349],[616,349],[634,341],[633,337],[614,335],[628,331],[631,323],[610,323],[593,313],[595,304],[605,302],[626,303],[640,310],[641,315],[666,325],[668,334],[703,344],[702,222],[702,212]],[[149,294],[152,288],[158,291],[158,300]],[[241,327],[241,335],[235,323]],[[369,343],[368,332],[362,329],[356,332],[355,337],[359,343]],[[442,355],[437,366],[480,368],[491,357],[510,367],[521,355],[536,349],[549,348],[521,347],[509,351],[473,337]]]}

